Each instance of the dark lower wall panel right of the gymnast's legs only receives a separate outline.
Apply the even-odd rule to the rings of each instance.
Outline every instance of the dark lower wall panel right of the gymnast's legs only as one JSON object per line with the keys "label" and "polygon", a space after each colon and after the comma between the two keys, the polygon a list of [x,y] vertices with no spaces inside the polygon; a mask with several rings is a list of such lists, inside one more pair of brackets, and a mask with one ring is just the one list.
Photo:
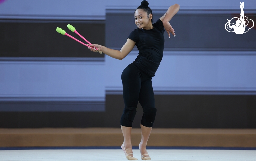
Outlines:
{"label": "dark lower wall panel right of the gymnast's legs only", "polygon": [[157,127],[256,127],[256,96],[157,95],[156,107]]}

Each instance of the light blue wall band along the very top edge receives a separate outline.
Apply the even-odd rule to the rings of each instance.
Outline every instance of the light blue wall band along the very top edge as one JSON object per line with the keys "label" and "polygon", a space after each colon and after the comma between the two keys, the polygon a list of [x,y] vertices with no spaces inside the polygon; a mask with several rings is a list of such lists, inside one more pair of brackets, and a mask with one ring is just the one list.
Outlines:
{"label": "light blue wall band along the very top edge", "polygon": [[[89,1],[84,0],[5,0],[1,1],[1,18],[22,18],[22,19],[64,19],[64,20],[104,20],[107,8],[136,9],[140,5],[140,0],[118,1],[118,0],[96,0],[89,5]],[[168,9],[172,4],[178,3],[183,10],[217,9],[230,12],[236,10],[240,13],[240,1],[233,0],[149,0],[152,9]],[[255,10],[255,1],[244,0],[245,10],[250,12]],[[246,13],[246,12],[245,12]]]}

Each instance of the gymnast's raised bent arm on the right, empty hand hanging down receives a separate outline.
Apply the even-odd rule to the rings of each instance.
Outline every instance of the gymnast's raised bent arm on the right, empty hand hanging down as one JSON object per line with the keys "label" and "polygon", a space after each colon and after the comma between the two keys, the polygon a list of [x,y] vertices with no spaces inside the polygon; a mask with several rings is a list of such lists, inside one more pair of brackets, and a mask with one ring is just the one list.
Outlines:
{"label": "gymnast's raised bent arm on the right, empty hand hanging down", "polygon": [[169,35],[169,38],[170,38],[170,32],[172,33],[173,36],[175,36],[174,29],[172,28],[169,21],[179,11],[179,9],[180,9],[180,5],[174,4],[174,5],[170,6],[168,8],[167,12],[160,18],[160,20],[163,22],[163,26],[164,26],[166,32]]}

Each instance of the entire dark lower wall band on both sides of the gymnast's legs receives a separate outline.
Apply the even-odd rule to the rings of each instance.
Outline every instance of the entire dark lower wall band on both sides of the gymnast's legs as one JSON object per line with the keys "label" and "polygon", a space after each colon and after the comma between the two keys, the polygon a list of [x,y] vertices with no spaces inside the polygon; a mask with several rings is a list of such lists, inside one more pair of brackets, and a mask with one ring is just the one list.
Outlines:
{"label": "entire dark lower wall band on both sides of the gymnast's legs", "polygon": [[[155,95],[156,128],[256,128],[255,95]],[[120,127],[122,95],[106,95],[105,112],[0,112],[0,128]],[[133,127],[143,115],[138,104]]]}

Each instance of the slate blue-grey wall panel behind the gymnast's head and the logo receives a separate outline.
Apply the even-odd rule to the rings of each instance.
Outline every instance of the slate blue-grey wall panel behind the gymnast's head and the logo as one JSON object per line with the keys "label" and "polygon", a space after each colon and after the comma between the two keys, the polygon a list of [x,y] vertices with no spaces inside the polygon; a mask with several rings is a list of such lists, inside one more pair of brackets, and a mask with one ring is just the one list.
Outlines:
{"label": "slate blue-grey wall panel behind the gymnast's head and the logo", "polygon": [[[162,15],[154,14],[153,10],[154,22]],[[133,17],[133,13],[107,12],[106,45],[108,47],[121,48],[124,45],[131,31],[137,28]],[[255,51],[255,29],[240,35],[225,30],[227,19],[232,17],[234,16],[231,14],[179,14],[178,12],[170,21],[176,37],[169,39],[165,32],[165,50]]]}

